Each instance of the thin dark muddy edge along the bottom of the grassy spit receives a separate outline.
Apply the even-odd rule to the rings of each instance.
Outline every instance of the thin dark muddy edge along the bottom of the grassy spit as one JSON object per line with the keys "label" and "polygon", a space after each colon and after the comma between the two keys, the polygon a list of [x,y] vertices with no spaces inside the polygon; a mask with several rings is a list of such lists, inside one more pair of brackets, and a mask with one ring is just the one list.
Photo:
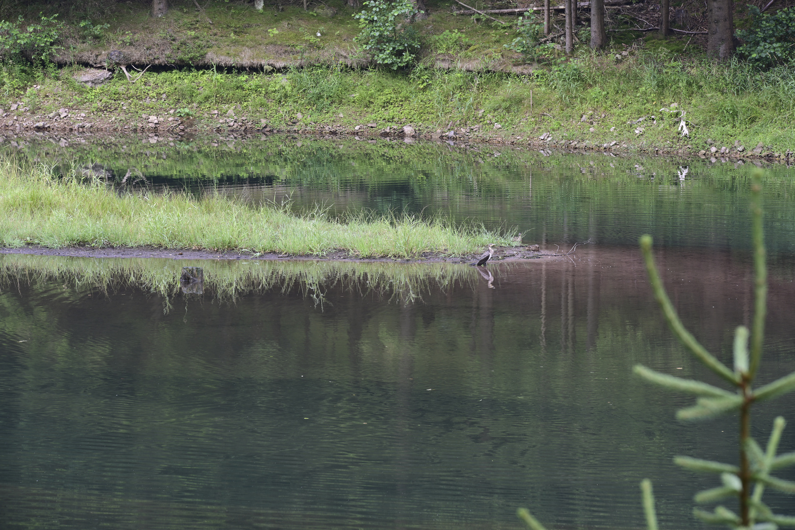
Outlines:
{"label": "thin dark muddy edge along the bottom of the grassy spit", "polygon": [[[503,246],[495,248],[494,257],[491,261],[533,261],[539,258],[546,259],[566,259],[567,255],[563,250],[553,252],[550,250],[538,249],[530,250],[530,246]],[[58,256],[58,257],[97,257],[97,258],[131,258],[131,257],[157,257],[172,260],[262,260],[262,261],[359,261],[363,263],[386,262],[401,264],[418,263],[471,263],[478,255],[471,256],[445,256],[442,253],[425,252],[417,257],[393,258],[393,257],[355,257],[345,251],[337,250],[323,256],[297,256],[293,254],[280,253],[242,253],[234,250],[212,251],[212,250],[187,250],[187,249],[163,249],[153,246],[140,247],[92,247],[92,246],[70,246],[60,249],[51,249],[40,245],[21,246],[17,248],[0,247],[2,254],[29,254],[34,256]]]}

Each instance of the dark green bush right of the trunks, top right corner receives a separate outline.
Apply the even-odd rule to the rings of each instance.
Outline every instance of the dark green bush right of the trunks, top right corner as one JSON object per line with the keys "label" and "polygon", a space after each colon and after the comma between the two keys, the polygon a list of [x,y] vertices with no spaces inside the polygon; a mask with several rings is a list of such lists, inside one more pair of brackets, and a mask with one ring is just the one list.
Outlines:
{"label": "dark green bush right of the trunks, top right corner", "polygon": [[750,27],[737,32],[743,45],[737,51],[758,67],[770,68],[795,60],[795,9],[787,7],[774,14],[748,6]]}

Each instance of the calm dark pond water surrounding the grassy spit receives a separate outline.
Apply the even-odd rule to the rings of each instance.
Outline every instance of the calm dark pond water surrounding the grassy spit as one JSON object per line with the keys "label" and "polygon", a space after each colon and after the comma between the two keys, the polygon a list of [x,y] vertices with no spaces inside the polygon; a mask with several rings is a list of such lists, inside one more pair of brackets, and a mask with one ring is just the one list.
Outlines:
{"label": "calm dark pond water surrounding the grassy spit", "polygon": [[[491,277],[445,264],[0,255],[2,528],[522,528],[519,506],[553,528],[642,528],[646,477],[662,528],[698,524],[692,493],[715,481],[671,459],[735,461],[736,425],[681,424],[688,397],[631,376],[642,362],[713,381],[661,322],[634,241],[656,235],[672,300],[728,362],[752,305],[746,168],[691,165],[680,180],[669,161],[510,152],[498,163],[389,146],[420,149],[409,161],[338,145],[307,151],[311,164],[289,158],[306,143],[267,158],[285,168],[281,191],[242,169],[192,180],[188,162],[159,165],[201,167],[198,147],[157,153],[162,171],[142,175],[196,193],[215,179],[250,200],[293,191],[294,207],[328,199],[338,214],[446,207],[461,222],[520,226],[528,241],[597,244],[572,260],[497,263]],[[20,150],[44,160],[47,149]],[[219,151],[217,167],[243,159]],[[111,160],[123,192],[127,170]],[[761,381],[795,370],[788,170],[768,190]],[[184,265],[204,267],[204,294],[180,292]],[[793,396],[762,405],[754,435],[793,408]],[[795,449],[795,428],[781,447]],[[793,511],[791,498],[768,501]]]}

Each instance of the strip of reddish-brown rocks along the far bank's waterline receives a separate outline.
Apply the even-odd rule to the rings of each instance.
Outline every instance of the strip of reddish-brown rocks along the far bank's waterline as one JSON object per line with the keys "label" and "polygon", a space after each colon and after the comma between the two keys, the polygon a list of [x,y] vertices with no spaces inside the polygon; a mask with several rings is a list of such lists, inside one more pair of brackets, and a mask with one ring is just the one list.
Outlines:
{"label": "strip of reddish-brown rocks along the far bank's waterline", "polygon": [[[122,111],[126,110],[122,107]],[[184,111],[184,110],[183,110]],[[456,126],[446,130],[432,130],[420,126],[382,126],[377,122],[363,122],[355,126],[325,125],[314,122],[306,123],[302,120],[301,113],[289,120],[285,125],[277,125],[267,118],[258,120],[250,119],[245,114],[238,115],[234,109],[226,112],[211,110],[202,115],[178,115],[180,111],[169,110],[158,114],[142,114],[139,116],[125,116],[114,114],[110,117],[91,113],[84,110],[75,110],[62,107],[50,114],[35,114],[21,103],[14,103],[9,109],[0,108],[0,135],[14,137],[47,137],[53,143],[62,147],[74,142],[84,142],[88,136],[135,135],[142,142],[149,144],[168,144],[183,139],[193,139],[197,135],[214,136],[218,140],[211,145],[219,145],[220,141],[237,139],[238,137],[269,137],[280,134],[293,137],[316,137],[332,139],[335,137],[351,137],[359,141],[374,143],[379,138],[400,140],[411,143],[413,141],[446,141],[456,145],[489,144],[510,145],[525,149],[537,149],[542,154],[549,156],[553,151],[566,153],[572,152],[602,152],[608,155],[619,154],[653,154],[663,156],[690,157],[708,160],[712,163],[739,162],[739,161],[766,161],[785,164],[795,163],[795,153],[790,150],[785,153],[774,152],[766,149],[760,142],[754,147],[741,145],[735,141],[734,145],[718,145],[707,141],[708,149],[696,149],[690,145],[653,145],[646,141],[627,142],[610,141],[598,143],[595,141],[561,138],[553,133],[542,133],[541,136],[527,137],[514,135],[500,124],[487,124],[475,126]],[[193,113],[190,113],[193,114]],[[493,130],[491,130],[493,128]],[[6,141],[3,138],[0,141]]]}

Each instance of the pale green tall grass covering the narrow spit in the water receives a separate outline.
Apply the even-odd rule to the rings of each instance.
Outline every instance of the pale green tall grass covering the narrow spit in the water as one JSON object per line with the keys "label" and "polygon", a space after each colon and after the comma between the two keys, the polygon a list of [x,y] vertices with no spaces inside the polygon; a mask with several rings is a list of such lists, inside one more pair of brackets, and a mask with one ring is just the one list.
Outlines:
{"label": "pale green tall grass covering the narrow spit in the water", "polygon": [[510,236],[464,229],[440,220],[332,221],[318,209],[250,207],[221,195],[118,195],[99,181],[56,179],[44,167],[0,159],[0,245],[158,246],[322,256],[417,257],[433,252],[467,255],[488,243],[510,246]]}

